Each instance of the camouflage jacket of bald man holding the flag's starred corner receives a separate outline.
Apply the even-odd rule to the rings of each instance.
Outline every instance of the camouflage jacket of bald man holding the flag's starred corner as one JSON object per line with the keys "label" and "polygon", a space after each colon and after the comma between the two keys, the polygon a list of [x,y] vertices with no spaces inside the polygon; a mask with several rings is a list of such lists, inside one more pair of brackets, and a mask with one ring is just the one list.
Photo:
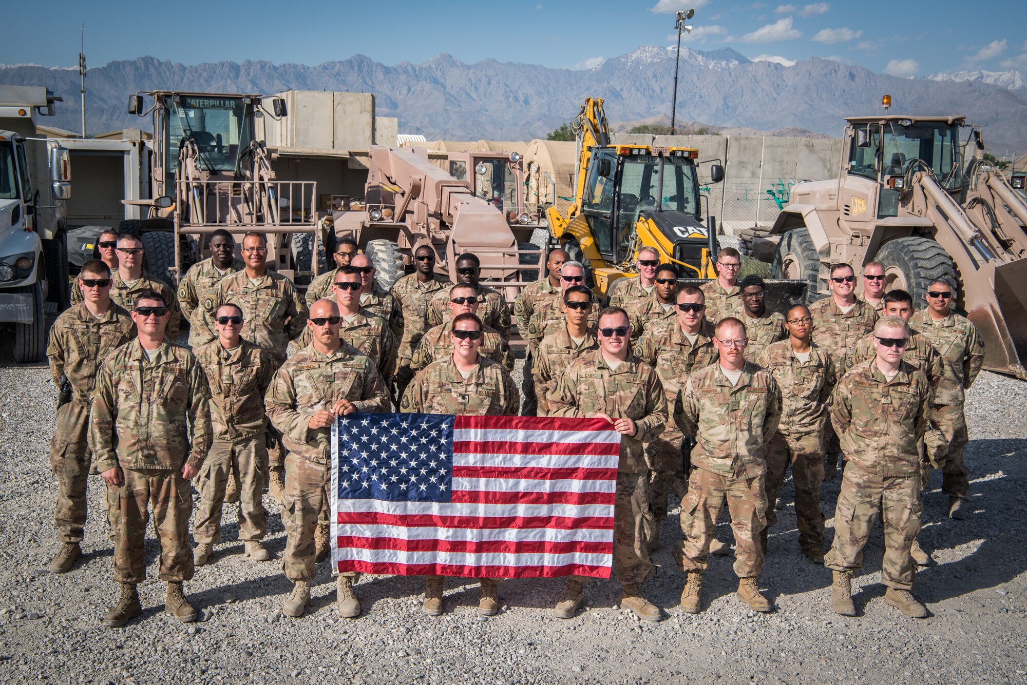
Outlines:
{"label": "camouflage jacket of bald man holding the flag's starred corner", "polygon": [[290,357],[274,374],[264,406],[289,451],[324,466],[332,458],[332,429],[312,429],[310,418],[339,400],[349,400],[357,411],[386,411],[389,406],[374,362],[345,342],[331,356],[308,345]]}

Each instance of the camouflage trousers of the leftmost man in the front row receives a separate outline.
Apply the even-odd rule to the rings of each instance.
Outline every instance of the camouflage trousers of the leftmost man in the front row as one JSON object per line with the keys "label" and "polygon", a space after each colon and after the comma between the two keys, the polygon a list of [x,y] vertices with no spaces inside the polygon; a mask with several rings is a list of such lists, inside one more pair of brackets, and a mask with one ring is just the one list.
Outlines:
{"label": "camouflage trousers of the leftmost man in the front row", "polygon": [[160,572],[168,582],[193,576],[192,548],[189,545],[189,517],[192,515],[192,487],[178,469],[121,469],[121,485],[108,486],[117,497],[117,541],[114,548],[114,577],[118,582],[138,585],[146,579],[147,507],[153,507],[153,528],[160,540]]}

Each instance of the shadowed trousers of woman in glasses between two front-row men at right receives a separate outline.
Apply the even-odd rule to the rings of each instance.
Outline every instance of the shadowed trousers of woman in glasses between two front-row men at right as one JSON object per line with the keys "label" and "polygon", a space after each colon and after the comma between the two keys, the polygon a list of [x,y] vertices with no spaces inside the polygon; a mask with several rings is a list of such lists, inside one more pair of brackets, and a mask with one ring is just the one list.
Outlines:
{"label": "shadowed trousers of woman in glasses between two front-row men at right", "polygon": [[767,448],[767,527],[777,522],[777,490],[785,481],[789,465],[795,482],[795,519],[799,527],[799,547],[824,548],[824,514],[821,512],[821,484],[824,483],[824,437],[807,433],[786,439],[779,433]]}

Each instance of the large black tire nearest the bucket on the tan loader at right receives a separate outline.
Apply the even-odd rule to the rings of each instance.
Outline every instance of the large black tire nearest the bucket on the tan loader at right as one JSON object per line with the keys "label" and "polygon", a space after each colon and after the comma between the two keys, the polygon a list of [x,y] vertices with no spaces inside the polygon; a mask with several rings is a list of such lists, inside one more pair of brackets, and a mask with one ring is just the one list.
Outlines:
{"label": "large black tire nearest the bucket on the tan loader at right", "polygon": [[913,295],[913,309],[927,306],[927,285],[936,278],[958,283],[952,257],[930,238],[896,238],[884,243],[875,258],[884,265],[885,292],[906,290]]}

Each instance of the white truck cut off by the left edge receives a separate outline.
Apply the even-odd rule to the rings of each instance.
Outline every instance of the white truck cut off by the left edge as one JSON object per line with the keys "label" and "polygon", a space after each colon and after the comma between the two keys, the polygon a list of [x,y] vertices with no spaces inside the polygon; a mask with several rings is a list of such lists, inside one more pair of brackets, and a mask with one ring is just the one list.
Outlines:
{"label": "white truck cut off by the left edge", "polygon": [[0,329],[13,328],[21,364],[45,357],[46,310],[70,295],[71,155],[36,131],[58,102],[44,87],[0,86]]}

